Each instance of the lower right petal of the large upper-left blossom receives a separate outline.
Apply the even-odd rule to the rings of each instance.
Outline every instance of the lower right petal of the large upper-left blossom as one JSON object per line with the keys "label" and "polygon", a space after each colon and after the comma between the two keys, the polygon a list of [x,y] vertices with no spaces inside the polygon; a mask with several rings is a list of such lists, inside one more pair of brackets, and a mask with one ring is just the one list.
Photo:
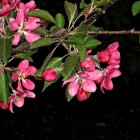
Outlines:
{"label": "lower right petal of the large upper-left blossom", "polygon": [[25,35],[25,39],[29,42],[29,43],[33,43],[34,41],[40,39],[40,35],[34,33],[34,32],[31,32],[31,31],[27,31],[27,32],[24,32],[24,35]]}

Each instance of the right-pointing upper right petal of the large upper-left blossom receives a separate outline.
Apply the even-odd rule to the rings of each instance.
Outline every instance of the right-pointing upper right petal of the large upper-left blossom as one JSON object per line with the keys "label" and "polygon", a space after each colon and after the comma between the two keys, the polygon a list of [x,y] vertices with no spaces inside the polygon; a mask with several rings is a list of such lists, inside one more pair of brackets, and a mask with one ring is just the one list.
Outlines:
{"label": "right-pointing upper right petal of the large upper-left blossom", "polygon": [[29,17],[28,21],[25,24],[25,28],[27,30],[35,30],[36,28],[38,28],[41,25],[37,22],[40,22],[39,18]]}

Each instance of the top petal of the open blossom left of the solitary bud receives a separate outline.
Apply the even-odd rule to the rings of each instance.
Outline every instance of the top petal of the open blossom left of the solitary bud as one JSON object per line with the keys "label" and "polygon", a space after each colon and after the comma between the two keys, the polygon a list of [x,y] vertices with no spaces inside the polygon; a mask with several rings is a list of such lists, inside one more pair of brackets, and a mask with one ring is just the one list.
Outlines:
{"label": "top petal of the open blossom left of the solitary bud", "polygon": [[25,69],[27,69],[29,67],[29,61],[28,60],[22,60],[19,64],[18,64],[18,71],[23,72],[25,71]]}

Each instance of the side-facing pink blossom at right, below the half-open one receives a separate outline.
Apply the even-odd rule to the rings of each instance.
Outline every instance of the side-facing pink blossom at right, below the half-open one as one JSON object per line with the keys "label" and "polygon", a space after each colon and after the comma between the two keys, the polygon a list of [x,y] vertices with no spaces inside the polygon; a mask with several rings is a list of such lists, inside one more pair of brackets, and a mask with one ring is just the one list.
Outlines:
{"label": "side-facing pink blossom at right, below the half-open one", "polygon": [[104,89],[112,90],[113,89],[113,82],[112,78],[118,77],[121,75],[120,70],[118,69],[119,65],[109,65],[105,70],[102,70],[102,77],[96,80],[96,83],[100,83],[100,89],[102,93],[104,93]]}

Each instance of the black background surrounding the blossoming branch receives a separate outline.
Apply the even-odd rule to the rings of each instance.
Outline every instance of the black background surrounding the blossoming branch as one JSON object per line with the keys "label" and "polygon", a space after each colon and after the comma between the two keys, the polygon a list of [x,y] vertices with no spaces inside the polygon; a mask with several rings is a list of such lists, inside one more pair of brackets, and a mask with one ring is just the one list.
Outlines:
{"label": "black background surrounding the blossoming branch", "polygon": [[[71,0],[74,2],[74,0]],[[140,30],[140,15],[132,16],[135,0],[119,0],[95,23],[105,30]],[[53,15],[63,12],[62,0],[37,0],[40,8]],[[113,79],[113,91],[103,95],[99,90],[87,101],[76,98],[67,102],[61,82],[40,93],[37,83],[36,99],[26,99],[15,113],[0,110],[0,140],[139,140],[140,118],[140,44],[137,35],[98,36],[102,45],[119,41],[122,75]],[[34,56],[41,59],[40,54]],[[37,63],[40,61],[36,61]]]}

